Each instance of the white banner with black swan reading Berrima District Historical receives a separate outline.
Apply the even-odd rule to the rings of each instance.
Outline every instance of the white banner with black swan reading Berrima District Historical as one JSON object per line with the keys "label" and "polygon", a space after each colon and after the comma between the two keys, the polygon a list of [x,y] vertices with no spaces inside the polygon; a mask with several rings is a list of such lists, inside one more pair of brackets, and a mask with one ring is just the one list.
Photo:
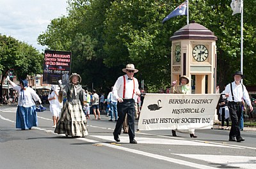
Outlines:
{"label": "white banner with black swan reading Berrima District Historical", "polygon": [[146,94],[140,130],[211,129],[220,94]]}

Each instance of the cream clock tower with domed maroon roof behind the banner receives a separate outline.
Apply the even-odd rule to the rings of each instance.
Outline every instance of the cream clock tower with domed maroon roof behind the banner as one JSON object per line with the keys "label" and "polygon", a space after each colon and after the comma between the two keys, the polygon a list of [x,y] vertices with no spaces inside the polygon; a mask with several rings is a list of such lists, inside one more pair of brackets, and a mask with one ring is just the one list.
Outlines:
{"label": "cream clock tower with domed maroon roof behind the banner", "polygon": [[172,81],[186,75],[191,79],[189,84],[192,85],[191,93],[214,93],[217,40],[214,33],[192,22],[176,31],[170,40],[172,41]]}

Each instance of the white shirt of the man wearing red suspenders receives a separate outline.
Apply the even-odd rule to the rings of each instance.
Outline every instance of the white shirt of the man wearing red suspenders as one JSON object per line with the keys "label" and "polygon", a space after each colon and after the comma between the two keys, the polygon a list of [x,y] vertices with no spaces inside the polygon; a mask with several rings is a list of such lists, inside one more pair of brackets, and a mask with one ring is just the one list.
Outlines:
{"label": "white shirt of the man wearing red suspenders", "polygon": [[[113,87],[113,96],[115,99],[123,98],[123,99],[134,99],[132,95],[136,95],[136,92],[140,92],[139,83],[137,78],[133,77],[133,80],[128,80],[128,76],[125,76],[125,96],[123,98],[124,91],[124,77],[118,77]],[[133,94],[134,89],[134,94]]]}

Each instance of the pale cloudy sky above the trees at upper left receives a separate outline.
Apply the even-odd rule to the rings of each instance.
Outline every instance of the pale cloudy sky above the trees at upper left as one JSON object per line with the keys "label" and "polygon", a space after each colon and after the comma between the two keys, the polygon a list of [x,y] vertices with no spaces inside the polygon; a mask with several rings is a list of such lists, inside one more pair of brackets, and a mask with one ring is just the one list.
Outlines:
{"label": "pale cloudy sky above the trees at upper left", "polygon": [[67,15],[67,6],[67,0],[0,0],[0,34],[44,52],[36,39],[52,19]]}

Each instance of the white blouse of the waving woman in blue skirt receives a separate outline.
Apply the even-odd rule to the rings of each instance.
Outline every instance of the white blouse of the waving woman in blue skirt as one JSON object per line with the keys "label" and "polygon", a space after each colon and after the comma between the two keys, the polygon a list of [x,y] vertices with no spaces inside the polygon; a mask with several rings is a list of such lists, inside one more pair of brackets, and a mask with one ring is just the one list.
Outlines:
{"label": "white blouse of the waving woman in blue skirt", "polygon": [[25,90],[20,91],[21,87],[15,84],[13,85],[13,89],[15,89],[19,93],[18,105],[20,107],[32,107],[35,105],[33,99],[35,99],[35,101],[38,101],[40,99],[36,92],[30,87],[27,87]]}

